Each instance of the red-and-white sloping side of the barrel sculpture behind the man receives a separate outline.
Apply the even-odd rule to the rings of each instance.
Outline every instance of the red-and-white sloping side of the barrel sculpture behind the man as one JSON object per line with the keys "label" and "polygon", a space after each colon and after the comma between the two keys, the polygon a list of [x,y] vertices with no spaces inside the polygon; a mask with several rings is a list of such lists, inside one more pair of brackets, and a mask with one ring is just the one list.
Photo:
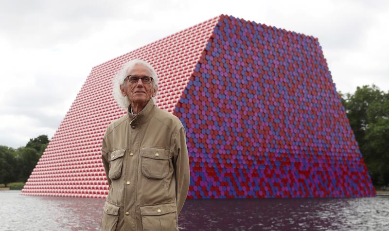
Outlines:
{"label": "red-and-white sloping side of the barrel sculpture behind the man", "polygon": [[108,124],[126,113],[112,96],[113,76],[131,59],[147,61],[159,75],[157,106],[173,112],[219,18],[94,67],[22,194],[105,198],[101,142]]}

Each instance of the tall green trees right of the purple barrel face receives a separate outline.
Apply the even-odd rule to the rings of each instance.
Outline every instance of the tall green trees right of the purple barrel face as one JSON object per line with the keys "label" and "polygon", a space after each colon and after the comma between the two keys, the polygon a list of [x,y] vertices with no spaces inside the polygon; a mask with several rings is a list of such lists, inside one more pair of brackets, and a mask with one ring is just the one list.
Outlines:
{"label": "tall green trees right of the purple barrel face", "polygon": [[339,94],[373,184],[388,184],[389,92],[372,85]]}

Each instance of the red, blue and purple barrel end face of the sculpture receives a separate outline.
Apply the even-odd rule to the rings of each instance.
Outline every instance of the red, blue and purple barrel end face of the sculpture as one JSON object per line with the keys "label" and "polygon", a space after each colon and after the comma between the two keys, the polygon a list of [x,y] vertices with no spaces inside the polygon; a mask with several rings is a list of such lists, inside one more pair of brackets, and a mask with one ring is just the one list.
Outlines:
{"label": "red, blue and purple barrel end face of the sculpture", "polygon": [[221,17],[174,113],[190,198],[375,195],[317,38]]}

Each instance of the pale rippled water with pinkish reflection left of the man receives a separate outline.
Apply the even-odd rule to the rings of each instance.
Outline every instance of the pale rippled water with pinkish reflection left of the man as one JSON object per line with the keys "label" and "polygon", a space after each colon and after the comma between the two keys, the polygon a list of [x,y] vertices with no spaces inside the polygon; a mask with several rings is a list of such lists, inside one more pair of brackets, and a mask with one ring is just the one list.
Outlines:
{"label": "pale rippled water with pinkish reflection left of the man", "polygon": [[[99,230],[104,200],[0,191],[0,230]],[[4,222],[5,221],[5,222]]]}

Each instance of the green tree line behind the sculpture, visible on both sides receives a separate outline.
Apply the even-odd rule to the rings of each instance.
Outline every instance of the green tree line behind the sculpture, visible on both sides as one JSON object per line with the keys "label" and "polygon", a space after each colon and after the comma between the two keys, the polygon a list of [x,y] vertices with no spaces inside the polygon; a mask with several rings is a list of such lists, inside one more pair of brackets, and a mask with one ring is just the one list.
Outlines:
{"label": "green tree line behind the sculpture, visible on both sides", "polygon": [[[388,185],[389,91],[385,93],[372,85],[338,94],[373,184]],[[47,135],[40,135],[18,149],[0,146],[0,184],[25,182],[48,143]]]}

